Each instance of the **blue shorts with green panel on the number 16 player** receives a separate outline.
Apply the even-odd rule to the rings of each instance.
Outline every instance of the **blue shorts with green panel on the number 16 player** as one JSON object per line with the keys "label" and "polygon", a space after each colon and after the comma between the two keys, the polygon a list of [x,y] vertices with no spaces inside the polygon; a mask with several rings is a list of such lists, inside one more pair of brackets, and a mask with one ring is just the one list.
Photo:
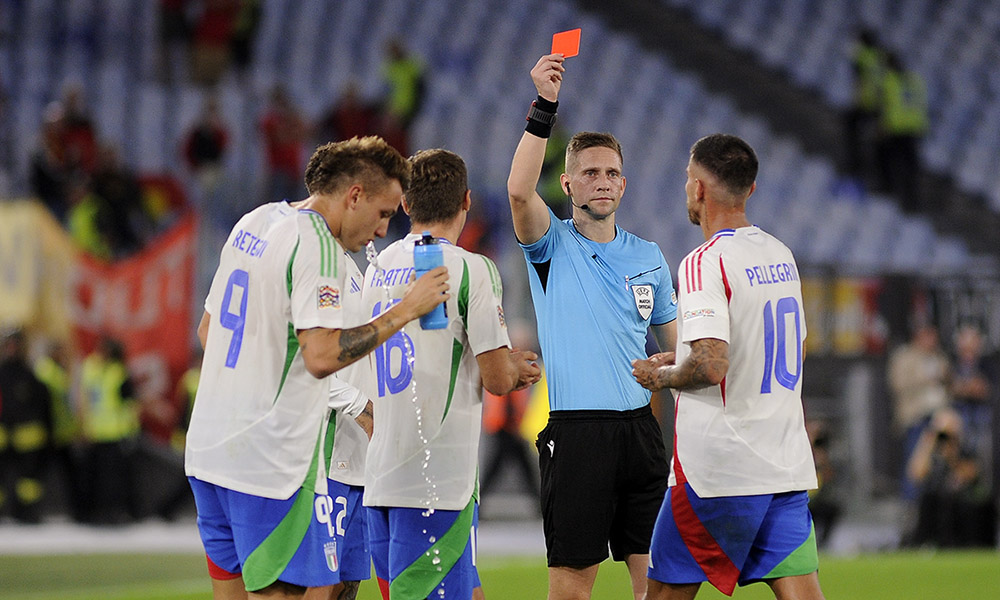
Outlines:
{"label": "blue shorts with green panel on the number 16 player", "polygon": [[479,505],[462,510],[367,507],[368,537],[383,597],[468,600],[476,571]]}

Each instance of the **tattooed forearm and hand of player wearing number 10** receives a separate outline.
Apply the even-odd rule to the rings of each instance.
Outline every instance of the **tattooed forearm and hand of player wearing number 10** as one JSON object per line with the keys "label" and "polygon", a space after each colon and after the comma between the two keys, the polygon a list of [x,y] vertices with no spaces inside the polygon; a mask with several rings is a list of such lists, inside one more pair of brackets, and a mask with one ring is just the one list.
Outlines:
{"label": "tattooed forearm and hand of player wearing number 10", "polygon": [[[666,353],[672,355],[672,353]],[[632,362],[632,375],[649,390],[696,390],[718,385],[729,370],[729,344],[715,338],[695,340],[684,362],[665,364],[663,355]],[[670,357],[672,362],[672,356]]]}

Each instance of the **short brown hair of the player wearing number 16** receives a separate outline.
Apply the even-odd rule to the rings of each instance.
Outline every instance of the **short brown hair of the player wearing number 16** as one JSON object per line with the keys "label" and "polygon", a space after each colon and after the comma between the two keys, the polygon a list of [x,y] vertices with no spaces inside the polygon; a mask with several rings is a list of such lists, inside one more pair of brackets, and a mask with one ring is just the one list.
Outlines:
{"label": "short brown hair of the player wearing number 16", "polygon": [[416,223],[451,220],[462,209],[469,177],[462,157],[435,148],[410,157],[411,179],[406,188],[406,208]]}

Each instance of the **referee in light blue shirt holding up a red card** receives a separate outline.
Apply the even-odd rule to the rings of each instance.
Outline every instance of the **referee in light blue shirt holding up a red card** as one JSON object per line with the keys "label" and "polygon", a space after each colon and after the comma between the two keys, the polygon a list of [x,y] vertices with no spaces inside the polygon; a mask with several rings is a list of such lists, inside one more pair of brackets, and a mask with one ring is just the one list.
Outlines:
{"label": "referee in light blue shirt holding up a red card", "polygon": [[507,180],[549,388],[549,422],[537,441],[549,599],[589,598],[610,545],[638,600],[667,457],[650,394],[629,363],[645,355],[650,328],[660,350],[673,349],[676,302],[660,249],[615,224],[625,177],[613,136],[570,139],[560,181],[572,219],[556,218],[535,191],[564,60],[543,56],[531,70],[538,99]]}

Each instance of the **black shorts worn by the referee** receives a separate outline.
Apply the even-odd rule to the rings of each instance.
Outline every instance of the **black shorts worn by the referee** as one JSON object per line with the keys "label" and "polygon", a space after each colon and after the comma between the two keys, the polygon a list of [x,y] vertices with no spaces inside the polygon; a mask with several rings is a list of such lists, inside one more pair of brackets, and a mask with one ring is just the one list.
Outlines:
{"label": "black shorts worn by the referee", "polygon": [[550,567],[649,552],[669,468],[649,405],[553,411],[535,445]]}

